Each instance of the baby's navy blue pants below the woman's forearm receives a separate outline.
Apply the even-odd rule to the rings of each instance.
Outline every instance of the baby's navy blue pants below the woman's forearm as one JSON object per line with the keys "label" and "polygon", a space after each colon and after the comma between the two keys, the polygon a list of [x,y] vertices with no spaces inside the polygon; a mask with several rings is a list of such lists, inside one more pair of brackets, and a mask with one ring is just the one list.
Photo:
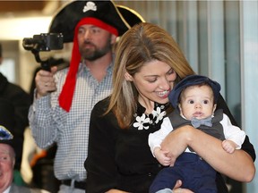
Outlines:
{"label": "baby's navy blue pants below the woman's forearm", "polygon": [[217,193],[216,171],[199,155],[183,153],[172,167],[162,169],[150,186],[150,193],[160,189],[174,189],[176,180],[182,180],[181,188],[194,193]]}

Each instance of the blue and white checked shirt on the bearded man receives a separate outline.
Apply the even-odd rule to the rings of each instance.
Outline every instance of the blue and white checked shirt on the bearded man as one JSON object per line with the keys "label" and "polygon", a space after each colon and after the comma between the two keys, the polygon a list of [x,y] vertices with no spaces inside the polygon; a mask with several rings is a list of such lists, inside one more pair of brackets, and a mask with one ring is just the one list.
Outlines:
{"label": "blue and white checked shirt on the bearded man", "polygon": [[37,145],[47,148],[57,143],[54,171],[58,180],[86,179],[83,164],[88,155],[90,112],[111,93],[113,66],[111,63],[106,77],[98,82],[86,65],[80,64],[69,113],[58,104],[68,69],[56,73],[55,92],[34,100],[30,106],[30,129]]}

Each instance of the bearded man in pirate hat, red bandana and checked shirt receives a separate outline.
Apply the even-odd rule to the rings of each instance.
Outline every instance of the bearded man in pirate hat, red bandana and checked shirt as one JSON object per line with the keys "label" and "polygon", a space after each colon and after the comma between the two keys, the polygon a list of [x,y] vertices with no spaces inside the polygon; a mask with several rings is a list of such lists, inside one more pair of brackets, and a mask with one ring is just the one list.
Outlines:
{"label": "bearded man in pirate hat, red bandana and checked shirt", "polygon": [[29,119],[39,147],[57,143],[54,169],[61,192],[85,192],[90,112],[112,90],[112,46],[130,27],[112,1],[73,1],[51,23],[50,32],[62,33],[64,43],[73,41],[70,67],[37,73]]}

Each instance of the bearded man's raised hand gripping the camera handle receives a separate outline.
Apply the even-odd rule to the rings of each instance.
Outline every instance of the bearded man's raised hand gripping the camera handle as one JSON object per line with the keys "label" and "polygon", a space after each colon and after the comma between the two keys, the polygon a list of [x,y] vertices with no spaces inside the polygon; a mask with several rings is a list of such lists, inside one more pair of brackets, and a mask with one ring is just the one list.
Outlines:
{"label": "bearded man's raised hand gripping the camera handle", "polygon": [[54,66],[51,68],[51,71],[38,71],[35,82],[37,88],[37,98],[41,96],[47,96],[49,92],[56,90],[56,82],[54,79],[54,74],[57,71],[57,67]]}

